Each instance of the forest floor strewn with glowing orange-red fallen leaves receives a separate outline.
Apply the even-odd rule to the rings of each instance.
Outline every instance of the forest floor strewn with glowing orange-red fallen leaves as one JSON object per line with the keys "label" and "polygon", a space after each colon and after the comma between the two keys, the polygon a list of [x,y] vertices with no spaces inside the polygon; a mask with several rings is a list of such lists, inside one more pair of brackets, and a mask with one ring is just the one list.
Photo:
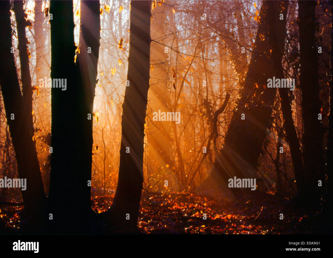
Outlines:
{"label": "forest floor strewn with glowing orange-red fallen leaves", "polygon": [[[98,213],[107,210],[113,197],[95,196],[93,209]],[[139,229],[152,234],[321,234],[325,230],[321,213],[302,212],[287,199],[259,191],[239,192],[235,198],[232,203],[217,202],[193,193],[158,194],[144,190]],[[7,227],[18,229],[22,207],[2,205],[0,220]]]}

